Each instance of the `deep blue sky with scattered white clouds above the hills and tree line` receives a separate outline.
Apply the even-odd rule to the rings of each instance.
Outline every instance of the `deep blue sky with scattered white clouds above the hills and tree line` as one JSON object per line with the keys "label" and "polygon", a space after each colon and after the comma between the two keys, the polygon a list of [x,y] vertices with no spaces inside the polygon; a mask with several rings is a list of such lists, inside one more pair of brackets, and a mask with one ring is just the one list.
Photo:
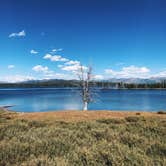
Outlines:
{"label": "deep blue sky with scattered white clouds above the hills and tree line", "polygon": [[165,0],[2,0],[0,81],[166,77]]}

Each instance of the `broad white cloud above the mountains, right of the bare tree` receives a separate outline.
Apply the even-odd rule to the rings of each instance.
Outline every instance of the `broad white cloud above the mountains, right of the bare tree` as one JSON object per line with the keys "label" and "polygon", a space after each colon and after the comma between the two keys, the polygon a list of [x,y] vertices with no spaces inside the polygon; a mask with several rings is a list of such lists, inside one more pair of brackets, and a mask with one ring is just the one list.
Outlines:
{"label": "broad white cloud above the mountains, right of the bare tree", "polygon": [[146,78],[150,76],[150,69],[147,67],[136,67],[132,65],[123,67],[120,71],[106,69],[105,73],[116,78]]}

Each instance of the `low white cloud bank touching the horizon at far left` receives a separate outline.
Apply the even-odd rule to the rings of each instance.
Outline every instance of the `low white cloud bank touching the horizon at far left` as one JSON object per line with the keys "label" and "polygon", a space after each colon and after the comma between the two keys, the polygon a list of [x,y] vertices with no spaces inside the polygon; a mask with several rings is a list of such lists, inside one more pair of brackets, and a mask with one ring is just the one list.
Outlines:
{"label": "low white cloud bank touching the horizon at far left", "polygon": [[30,80],[35,80],[34,77],[32,76],[24,76],[24,75],[10,75],[10,76],[5,76],[0,78],[1,81],[3,82],[22,82],[22,81],[30,81]]}

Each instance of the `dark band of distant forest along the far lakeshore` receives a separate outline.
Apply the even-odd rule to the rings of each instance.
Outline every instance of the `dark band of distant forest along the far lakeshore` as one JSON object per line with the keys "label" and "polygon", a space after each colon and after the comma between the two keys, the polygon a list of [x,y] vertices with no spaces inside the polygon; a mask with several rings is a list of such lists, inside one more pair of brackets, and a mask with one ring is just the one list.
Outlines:
{"label": "dark band of distant forest along the far lakeshore", "polygon": [[[0,88],[65,88],[79,87],[77,80],[43,80],[27,81],[21,83],[0,83]],[[124,83],[110,81],[93,81],[91,86],[103,89],[157,89],[166,88],[166,80],[158,83]]]}

